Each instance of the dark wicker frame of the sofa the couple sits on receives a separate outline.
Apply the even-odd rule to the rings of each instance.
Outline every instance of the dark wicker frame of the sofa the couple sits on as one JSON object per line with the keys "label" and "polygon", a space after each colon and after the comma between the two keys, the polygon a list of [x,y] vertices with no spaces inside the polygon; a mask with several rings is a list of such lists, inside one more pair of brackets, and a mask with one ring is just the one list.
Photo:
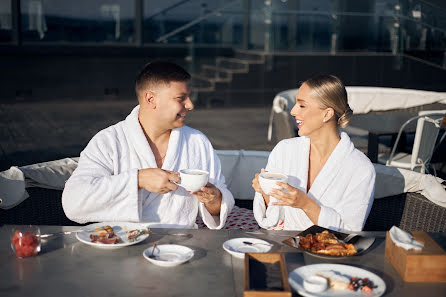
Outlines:
{"label": "dark wicker frame of the sofa the couple sits on", "polygon": [[[0,224],[79,225],[65,216],[62,191],[28,188],[30,197],[20,205],[0,209]],[[252,208],[252,200],[236,199],[239,207]],[[385,231],[392,226],[413,231],[446,231],[446,208],[436,205],[418,193],[404,193],[376,199],[364,230]]]}

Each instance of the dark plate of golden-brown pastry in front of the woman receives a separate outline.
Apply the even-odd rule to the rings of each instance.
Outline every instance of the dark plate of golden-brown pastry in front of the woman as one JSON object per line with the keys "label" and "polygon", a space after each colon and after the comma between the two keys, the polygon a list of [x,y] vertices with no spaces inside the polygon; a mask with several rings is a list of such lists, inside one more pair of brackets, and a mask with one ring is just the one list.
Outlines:
{"label": "dark plate of golden-brown pastry in front of the woman", "polygon": [[314,225],[283,242],[315,257],[342,259],[364,253],[374,241],[374,237],[348,234]]}

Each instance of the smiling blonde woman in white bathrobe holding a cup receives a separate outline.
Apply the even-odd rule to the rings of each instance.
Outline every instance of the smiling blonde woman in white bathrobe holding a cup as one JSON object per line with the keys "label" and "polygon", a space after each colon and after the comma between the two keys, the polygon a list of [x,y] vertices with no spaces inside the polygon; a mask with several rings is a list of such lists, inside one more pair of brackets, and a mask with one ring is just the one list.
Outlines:
{"label": "smiling blonde woman in white bathrobe holding a cup", "polygon": [[339,78],[317,76],[301,85],[291,110],[300,137],[279,142],[266,166],[286,174],[288,184],[278,182],[279,189],[263,193],[259,173],[253,179],[254,216],[262,228],[362,230],[373,203],[375,170],[339,131],[352,114]]}

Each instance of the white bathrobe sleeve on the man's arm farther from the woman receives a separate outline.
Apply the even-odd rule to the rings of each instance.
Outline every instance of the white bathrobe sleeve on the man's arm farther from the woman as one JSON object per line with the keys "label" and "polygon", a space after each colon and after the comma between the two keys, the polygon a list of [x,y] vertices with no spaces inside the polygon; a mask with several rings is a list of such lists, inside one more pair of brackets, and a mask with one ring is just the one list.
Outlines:
{"label": "white bathrobe sleeve on the man's arm farther from the woman", "polygon": [[81,153],[62,195],[62,206],[70,220],[86,223],[140,219],[138,169],[114,173],[120,158],[128,158],[120,151],[116,137],[113,130],[101,131]]}

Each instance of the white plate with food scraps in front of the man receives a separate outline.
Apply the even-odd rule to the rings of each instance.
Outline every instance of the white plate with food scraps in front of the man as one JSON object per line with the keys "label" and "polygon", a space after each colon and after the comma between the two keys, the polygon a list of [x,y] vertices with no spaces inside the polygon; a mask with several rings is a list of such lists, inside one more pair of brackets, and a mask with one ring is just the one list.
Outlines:
{"label": "white plate with food scraps in front of the man", "polygon": [[[105,243],[96,243],[91,242],[90,234],[97,234],[94,231],[95,227],[104,227],[104,226],[111,226],[117,236],[121,238],[120,243],[116,244],[105,244]],[[143,240],[145,240],[147,237],[149,237],[149,234],[143,234],[136,238],[135,241],[129,241],[127,237],[127,231],[135,230],[135,229],[145,229],[147,226],[145,224],[140,223],[128,223],[128,222],[101,222],[101,223],[95,223],[91,224],[85,227],[82,227],[84,231],[80,231],[76,233],[76,238],[88,245],[101,248],[101,249],[118,249],[125,246],[137,244]]]}

